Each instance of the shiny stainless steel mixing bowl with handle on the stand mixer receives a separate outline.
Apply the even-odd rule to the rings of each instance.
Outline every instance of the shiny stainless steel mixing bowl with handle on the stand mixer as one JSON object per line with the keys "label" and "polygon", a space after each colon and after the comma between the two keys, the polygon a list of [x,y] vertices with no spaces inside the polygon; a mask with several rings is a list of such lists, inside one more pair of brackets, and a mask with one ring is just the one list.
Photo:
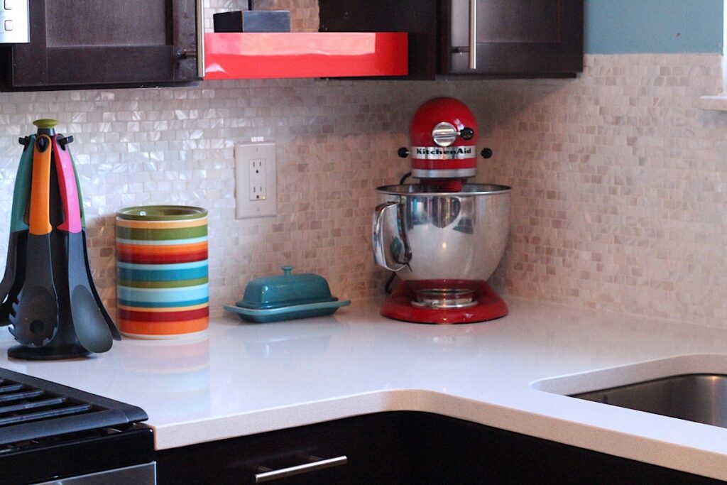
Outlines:
{"label": "shiny stainless steel mixing bowl with handle on the stand mixer", "polygon": [[446,193],[427,185],[377,188],[374,259],[403,280],[486,281],[505,253],[511,190],[486,184]]}

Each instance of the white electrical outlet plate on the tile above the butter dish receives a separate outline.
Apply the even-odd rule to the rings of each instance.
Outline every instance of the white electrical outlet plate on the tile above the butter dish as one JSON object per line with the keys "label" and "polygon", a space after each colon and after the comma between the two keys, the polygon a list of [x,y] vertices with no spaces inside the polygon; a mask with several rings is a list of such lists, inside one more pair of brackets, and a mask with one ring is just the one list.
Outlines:
{"label": "white electrical outlet plate on the tile above the butter dish", "polygon": [[236,217],[270,217],[278,213],[275,143],[235,145]]}

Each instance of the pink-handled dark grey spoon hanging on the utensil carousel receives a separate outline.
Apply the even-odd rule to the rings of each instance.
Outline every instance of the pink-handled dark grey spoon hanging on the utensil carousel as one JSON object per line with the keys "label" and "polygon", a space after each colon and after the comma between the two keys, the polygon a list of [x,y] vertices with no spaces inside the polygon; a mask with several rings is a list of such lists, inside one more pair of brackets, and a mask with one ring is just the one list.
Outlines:
{"label": "pink-handled dark grey spoon hanging on the utensil carousel", "polygon": [[101,353],[111,348],[113,337],[91,290],[92,280],[86,271],[81,209],[71,153],[65,144],[58,143],[58,136],[53,137],[53,156],[65,220],[57,229],[65,234],[65,246],[68,249],[68,296],[73,329],[84,348]]}

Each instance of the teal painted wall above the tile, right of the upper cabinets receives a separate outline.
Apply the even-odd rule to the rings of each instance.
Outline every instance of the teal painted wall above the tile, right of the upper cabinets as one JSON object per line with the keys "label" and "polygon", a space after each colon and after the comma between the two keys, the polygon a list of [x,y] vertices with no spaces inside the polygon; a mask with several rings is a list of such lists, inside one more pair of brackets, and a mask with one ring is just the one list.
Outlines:
{"label": "teal painted wall above the tile, right of the upper cabinets", "polygon": [[586,0],[590,54],[719,52],[724,0]]}

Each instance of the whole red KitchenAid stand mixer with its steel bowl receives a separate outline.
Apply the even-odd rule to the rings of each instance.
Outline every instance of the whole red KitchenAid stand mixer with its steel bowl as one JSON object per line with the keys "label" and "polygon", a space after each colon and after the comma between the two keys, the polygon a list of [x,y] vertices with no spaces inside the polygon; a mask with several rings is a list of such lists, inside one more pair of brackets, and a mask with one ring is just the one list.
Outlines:
{"label": "whole red KitchenAid stand mixer with its steel bowl", "polygon": [[511,189],[467,183],[477,172],[475,116],[459,100],[435,98],[414,114],[409,137],[398,153],[411,156],[419,183],[377,188],[374,260],[401,280],[382,315],[427,324],[507,315],[487,279],[505,253]]}

